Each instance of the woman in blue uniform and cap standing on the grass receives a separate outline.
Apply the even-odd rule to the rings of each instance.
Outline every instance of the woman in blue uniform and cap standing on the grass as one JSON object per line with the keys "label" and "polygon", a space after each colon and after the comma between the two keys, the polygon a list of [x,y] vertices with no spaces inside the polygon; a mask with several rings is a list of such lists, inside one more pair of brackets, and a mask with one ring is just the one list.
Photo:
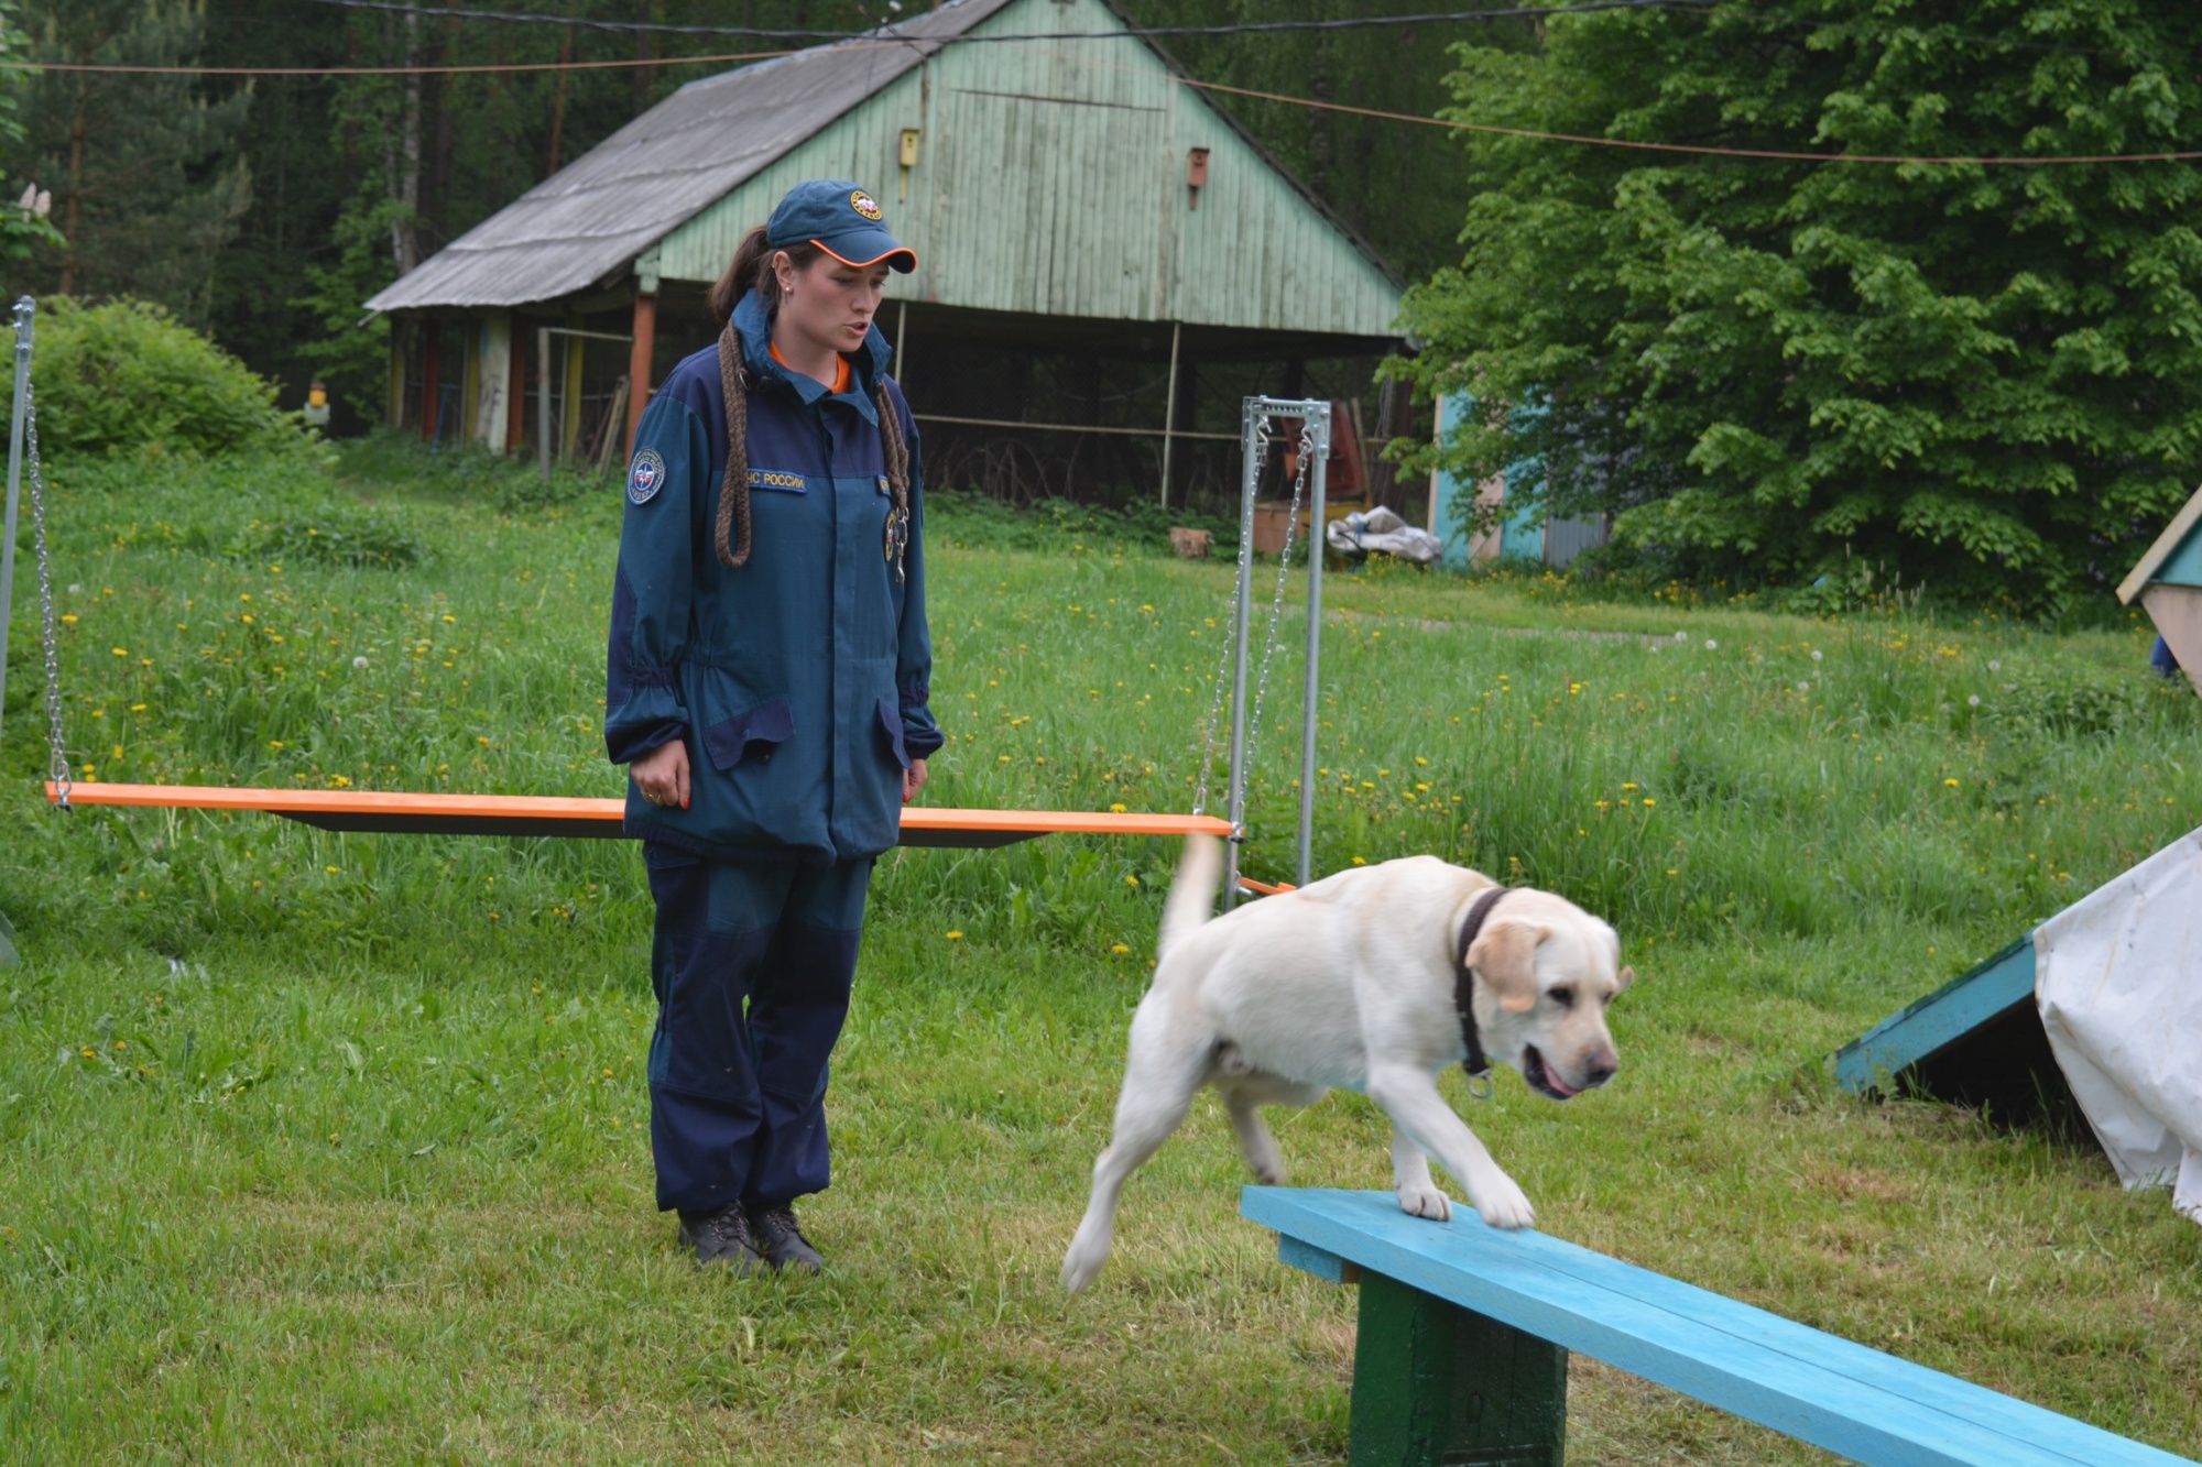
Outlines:
{"label": "woman in blue uniform and cap standing on the grass", "polygon": [[872,861],[927,709],[918,432],[872,326],[916,256],[848,181],[788,189],[711,291],[727,322],[634,438],[606,745],[656,899],[650,1143],[698,1262],[821,1267],[826,1062]]}

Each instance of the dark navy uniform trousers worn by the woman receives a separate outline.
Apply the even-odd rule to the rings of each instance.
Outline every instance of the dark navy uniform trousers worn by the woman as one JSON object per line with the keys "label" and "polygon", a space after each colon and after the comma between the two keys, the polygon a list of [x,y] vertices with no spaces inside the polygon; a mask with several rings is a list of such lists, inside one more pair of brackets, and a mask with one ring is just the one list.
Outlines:
{"label": "dark navy uniform trousers worn by the woman", "polygon": [[658,903],[658,1209],[824,1192],[826,1062],[848,1018],[872,859],[733,863],[647,841],[643,861]]}

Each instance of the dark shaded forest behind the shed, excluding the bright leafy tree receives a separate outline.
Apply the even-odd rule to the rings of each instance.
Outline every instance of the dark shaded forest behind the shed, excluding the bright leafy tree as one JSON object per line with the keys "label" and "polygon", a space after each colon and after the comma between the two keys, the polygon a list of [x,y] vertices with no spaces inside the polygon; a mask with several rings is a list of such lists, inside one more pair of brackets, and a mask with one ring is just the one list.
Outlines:
{"label": "dark shaded forest behind the shed, excluding the bright leafy tree", "polygon": [[[914,0],[914,7],[923,0]],[[912,9],[914,9],[912,7]],[[148,77],[44,70],[22,88],[11,181],[53,192],[59,240],[11,291],[134,295],[280,385],[335,388],[366,423],[381,322],[359,302],[696,77],[815,44],[724,31],[863,31],[885,0],[515,0],[493,20],[357,0],[26,0],[15,55],[139,66],[528,66],[412,77]],[[491,7],[467,7],[487,11]],[[1125,0],[1138,24],[1374,15],[1378,0]],[[564,18],[564,22],[559,22]],[[1497,22],[1524,37],[1519,22]],[[1460,24],[1171,37],[1198,77],[1431,115]],[[685,59],[713,57],[713,59]],[[1218,97],[1407,278],[1458,260],[1469,159],[1447,132]]]}

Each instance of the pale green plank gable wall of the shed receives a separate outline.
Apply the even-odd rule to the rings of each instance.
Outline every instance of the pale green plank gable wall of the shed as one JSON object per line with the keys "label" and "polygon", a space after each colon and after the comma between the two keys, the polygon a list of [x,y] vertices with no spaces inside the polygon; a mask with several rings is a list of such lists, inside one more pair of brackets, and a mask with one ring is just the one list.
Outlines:
{"label": "pale green plank gable wall of the shed", "polygon": [[[1101,0],[1024,0],[989,31],[1123,22]],[[920,132],[907,200],[903,128]],[[1198,209],[1193,148],[1209,150]],[[1398,315],[1385,271],[1130,35],[942,48],[672,231],[658,275],[716,280],[788,185],[837,176],[918,251],[887,300],[1359,337]]]}

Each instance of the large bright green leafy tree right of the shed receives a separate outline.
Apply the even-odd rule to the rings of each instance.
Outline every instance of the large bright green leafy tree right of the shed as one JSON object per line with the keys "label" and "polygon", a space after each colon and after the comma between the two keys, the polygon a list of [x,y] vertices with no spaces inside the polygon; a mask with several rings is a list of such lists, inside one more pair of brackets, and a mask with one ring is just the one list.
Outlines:
{"label": "large bright green leafy tree right of the shed", "polygon": [[[1462,46],[1462,123],[1832,159],[2202,143],[2189,0],[1731,0]],[[1420,463],[1544,454],[1544,500],[1678,568],[1845,553],[2046,608],[2202,476],[2193,161],[1817,163],[1467,134],[1467,258],[1411,293]]]}

